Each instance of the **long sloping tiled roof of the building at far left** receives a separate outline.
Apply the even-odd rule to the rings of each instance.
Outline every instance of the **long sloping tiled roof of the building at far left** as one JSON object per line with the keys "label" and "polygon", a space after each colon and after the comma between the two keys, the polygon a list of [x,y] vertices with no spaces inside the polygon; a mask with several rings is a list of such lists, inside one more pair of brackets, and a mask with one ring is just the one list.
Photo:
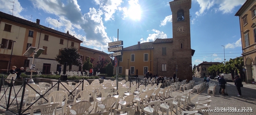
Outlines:
{"label": "long sloping tiled roof of the building at far left", "polygon": [[30,22],[28,20],[24,20],[22,18],[18,18],[16,16],[12,16],[10,14],[6,14],[4,12],[0,12],[0,18],[4,18],[6,20],[10,20],[10,21],[13,21],[13,22],[16,22],[16,23],[19,23],[19,24],[24,24],[26,26],[30,26],[30,27],[33,27],[33,28],[38,28],[40,30],[45,30],[45,31],[48,31],[48,32],[52,32],[52,33],[58,34],[60,36],[64,36],[64,37],[71,38],[73,40],[77,40],[77,41],[79,41],[81,43],[83,42],[83,41],[77,39],[76,37],[74,37],[74,36],[72,36],[70,34],[66,34],[66,33],[54,30],[52,28],[48,28],[46,26],[42,26],[42,25],[36,24],[35,22]]}

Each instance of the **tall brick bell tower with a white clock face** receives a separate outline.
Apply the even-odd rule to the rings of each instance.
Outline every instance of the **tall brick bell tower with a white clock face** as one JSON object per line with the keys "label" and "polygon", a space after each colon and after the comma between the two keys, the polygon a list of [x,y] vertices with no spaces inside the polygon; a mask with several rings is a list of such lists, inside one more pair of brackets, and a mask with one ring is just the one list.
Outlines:
{"label": "tall brick bell tower with a white clock face", "polygon": [[192,80],[191,16],[189,13],[191,0],[174,0],[169,3],[172,11],[172,45],[176,58],[177,78],[189,81]]}

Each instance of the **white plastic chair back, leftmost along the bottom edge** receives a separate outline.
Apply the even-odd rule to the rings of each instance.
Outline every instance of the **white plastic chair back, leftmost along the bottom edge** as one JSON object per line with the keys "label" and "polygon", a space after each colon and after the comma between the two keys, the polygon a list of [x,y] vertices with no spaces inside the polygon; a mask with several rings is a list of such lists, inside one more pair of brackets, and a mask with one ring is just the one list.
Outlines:
{"label": "white plastic chair back, leftmost along the bottom edge", "polygon": [[[43,105],[38,105],[35,107],[32,107],[30,109],[30,115],[56,115],[56,109],[58,103],[53,103],[53,104],[43,104]],[[34,114],[34,110],[40,109],[41,112],[40,114]]]}

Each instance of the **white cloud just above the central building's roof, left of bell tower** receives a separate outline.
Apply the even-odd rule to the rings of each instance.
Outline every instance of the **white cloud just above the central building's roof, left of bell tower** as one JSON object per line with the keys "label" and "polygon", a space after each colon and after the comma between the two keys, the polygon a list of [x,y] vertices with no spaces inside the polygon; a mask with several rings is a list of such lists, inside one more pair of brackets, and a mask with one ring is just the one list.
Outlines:
{"label": "white cloud just above the central building's roof, left of bell tower", "polygon": [[154,34],[148,34],[148,38],[146,40],[142,40],[140,39],[140,43],[143,42],[153,42],[156,40],[156,38],[167,38],[167,35],[164,34],[164,32],[160,32],[159,30],[152,30],[153,32],[155,32]]}

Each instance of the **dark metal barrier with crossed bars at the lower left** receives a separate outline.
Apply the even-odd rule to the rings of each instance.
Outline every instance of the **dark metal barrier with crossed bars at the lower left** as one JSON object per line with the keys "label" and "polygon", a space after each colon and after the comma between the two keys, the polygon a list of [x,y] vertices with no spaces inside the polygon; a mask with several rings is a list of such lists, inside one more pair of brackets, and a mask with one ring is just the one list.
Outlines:
{"label": "dark metal barrier with crossed bars at the lower left", "polygon": [[[10,80],[10,85],[8,85],[8,82],[6,80]],[[13,81],[22,83],[22,85],[14,85]],[[78,85],[75,85],[72,90],[69,90],[67,87],[64,86],[64,82],[78,82]],[[29,114],[27,110],[31,109],[32,105],[34,105],[36,102],[39,100],[42,100],[42,104],[48,103],[47,95],[49,91],[59,91],[60,89],[68,93],[68,97],[72,96],[74,97],[75,95],[73,94],[74,91],[78,90],[78,87],[80,87],[81,91],[84,89],[84,79],[81,80],[68,80],[68,81],[40,81],[44,83],[52,83],[52,87],[49,87],[48,89],[45,89],[46,91],[44,93],[38,92],[36,89],[34,89],[30,84],[35,83],[38,84],[38,81],[35,82],[29,82],[27,79],[24,79],[24,81],[18,81],[12,79],[6,79],[3,78],[1,79],[0,82],[0,106],[6,109],[6,111],[10,111],[16,115],[26,115]],[[82,85],[82,87],[81,87]],[[24,106],[25,103],[28,103],[30,101],[26,101],[24,103],[24,100],[28,100],[28,89],[32,89],[36,92],[36,94],[39,95],[39,98],[35,99],[34,102],[29,103],[30,105]],[[27,91],[26,91],[27,90]],[[64,99],[65,100],[65,99]],[[63,101],[64,101],[63,100]],[[45,102],[45,103],[44,103]],[[73,102],[73,101],[72,101]]]}

